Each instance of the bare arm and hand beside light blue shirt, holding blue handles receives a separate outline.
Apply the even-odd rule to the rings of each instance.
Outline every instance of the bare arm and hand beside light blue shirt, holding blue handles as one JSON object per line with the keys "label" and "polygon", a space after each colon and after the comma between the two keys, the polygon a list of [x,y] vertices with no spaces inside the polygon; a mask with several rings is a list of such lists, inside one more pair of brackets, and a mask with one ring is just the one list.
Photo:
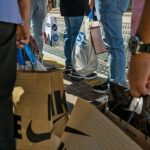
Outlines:
{"label": "bare arm and hand beside light blue shirt, holding blue handles", "polygon": [[30,38],[30,26],[29,26],[29,16],[30,16],[30,0],[18,0],[18,6],[20,14],[23,20],[22,25],[18,25],[16,32],[17,46],[22,48],[23,45],[28,44]]}

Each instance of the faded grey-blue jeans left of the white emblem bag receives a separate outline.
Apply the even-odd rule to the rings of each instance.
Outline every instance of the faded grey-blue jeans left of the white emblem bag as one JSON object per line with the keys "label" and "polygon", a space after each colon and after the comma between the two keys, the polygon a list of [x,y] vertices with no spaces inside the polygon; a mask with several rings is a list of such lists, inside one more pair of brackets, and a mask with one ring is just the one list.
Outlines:
{"label": "faded grey-blue jeans left of the white emblem bag", "polygon": [[47,11],[47,1],[31,0],[30,3],[30,20],[32,20],[33,35],[42,57],[44,42],[42,27]]}

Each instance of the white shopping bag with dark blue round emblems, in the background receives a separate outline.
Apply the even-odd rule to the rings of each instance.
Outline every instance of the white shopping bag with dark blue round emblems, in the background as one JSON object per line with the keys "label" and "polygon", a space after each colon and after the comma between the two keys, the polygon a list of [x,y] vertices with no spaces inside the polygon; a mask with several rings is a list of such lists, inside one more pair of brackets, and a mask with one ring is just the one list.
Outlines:
{"label": "white shopping bag with dark blue round emblems, in the background", "polygon": [[55,47],[59,46],[59,29],[57,25],[57,18],[51,15],[45,17],[43,24],[43,34],[45,44]]}

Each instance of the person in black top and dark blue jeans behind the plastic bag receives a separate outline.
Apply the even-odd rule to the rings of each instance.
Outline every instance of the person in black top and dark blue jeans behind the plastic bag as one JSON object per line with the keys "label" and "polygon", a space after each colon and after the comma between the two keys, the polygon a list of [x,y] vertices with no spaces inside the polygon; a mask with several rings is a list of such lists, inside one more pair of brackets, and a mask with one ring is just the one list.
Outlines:
{"label": "person in black top and dark blue jeans behind the plastic bag", "polygon": [[[83,17],[88,13],[88,0],[60,0],[60,12],[64,16],[64,53],[66,57],[65,70],[67,74],[72,73],[71,54],[80,30]],[[76,78],[82,78],[77,73]]]}

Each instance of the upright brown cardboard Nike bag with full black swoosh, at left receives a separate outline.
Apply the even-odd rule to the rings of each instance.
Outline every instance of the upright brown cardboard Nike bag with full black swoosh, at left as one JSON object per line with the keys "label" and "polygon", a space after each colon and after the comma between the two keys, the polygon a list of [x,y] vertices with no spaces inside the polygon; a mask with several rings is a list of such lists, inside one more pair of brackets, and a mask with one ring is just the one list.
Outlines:
{"label": "upright brown cardboard Nike bag with full black swoosh, at left", "polygon": [[56,150],[68,120],[62,73],[17,71],[13,101],[17,150]]}

